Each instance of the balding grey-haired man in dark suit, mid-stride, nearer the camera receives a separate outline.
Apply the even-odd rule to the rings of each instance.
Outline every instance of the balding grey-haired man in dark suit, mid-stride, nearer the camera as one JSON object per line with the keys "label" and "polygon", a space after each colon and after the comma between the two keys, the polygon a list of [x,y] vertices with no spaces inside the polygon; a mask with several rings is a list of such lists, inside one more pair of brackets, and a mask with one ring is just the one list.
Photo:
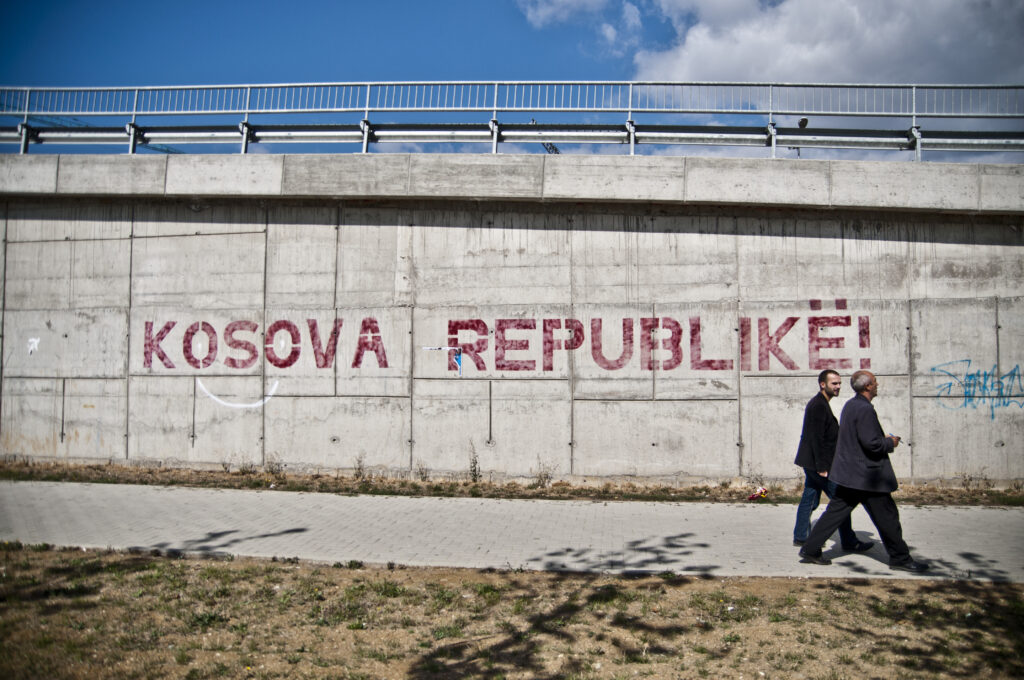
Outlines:
{"label": "balding grey-haired man in dark suit, mid-stride, nearer the camera", "polygon": [[822,557],[821,546],[853,509],[863,504],[889,553],[889,568],[920,573],[928,565],[910,557],[892,497],[898,483],[889,454],[899,445],[900,438],[886,436],[871,406],[871,399],[879,393],[874,376],[869,371],[857,371],[850,385],[857,394],[843,407],[836,459],[829,474],[838,484],[836,496],[800,549],[800,561],[830,564],[830,560]]}

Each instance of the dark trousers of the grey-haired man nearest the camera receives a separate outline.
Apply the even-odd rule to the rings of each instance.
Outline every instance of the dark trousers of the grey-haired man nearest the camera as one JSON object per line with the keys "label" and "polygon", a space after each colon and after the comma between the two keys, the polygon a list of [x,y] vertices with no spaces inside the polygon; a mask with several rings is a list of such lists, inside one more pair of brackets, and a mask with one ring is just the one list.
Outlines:
{"label": "dark trousers of the grey-haired man nearest the camera", "polygon": [[910,549],[903,541],[903,527],[899,523],[899,510],[892,494],[865,492],[848,486],[837,486],[836,496],[828,502],[828,507],[818,517],[811,527],[801,552],[808,555],[818,555],[821,547],[828,540],[843,520],[849,519],[850,513],[858,505],[863,505],[867,516],[871,518],[874,528],[879,530],[882,545],[889,553],[890,564],[900,564],[910,561]]}

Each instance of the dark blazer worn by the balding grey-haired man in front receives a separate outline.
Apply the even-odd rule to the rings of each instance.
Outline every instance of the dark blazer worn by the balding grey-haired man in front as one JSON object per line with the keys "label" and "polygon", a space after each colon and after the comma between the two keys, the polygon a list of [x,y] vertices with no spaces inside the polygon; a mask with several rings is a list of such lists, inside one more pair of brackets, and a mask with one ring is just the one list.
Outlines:
{"label": "dark blazer worn by the balding grey-haired man in front", "polygon": [[857,394],[843,407],[828,478],[841,486],[891,494],[899,487],[889,462],[892,451],[893,441],[882,429],[874,407]]}

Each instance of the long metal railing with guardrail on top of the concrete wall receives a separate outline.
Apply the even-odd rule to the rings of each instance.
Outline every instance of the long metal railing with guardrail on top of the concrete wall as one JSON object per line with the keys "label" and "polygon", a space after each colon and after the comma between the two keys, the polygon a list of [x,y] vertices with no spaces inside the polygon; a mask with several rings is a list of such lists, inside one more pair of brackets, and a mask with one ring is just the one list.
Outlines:
{"label": "long metal railing with guardrail on top of the concrete wall", "polygon": [[[408,114],[451,119],[399,120]],[[519,120],[551,114],[577,116],[558,123]],[[588,120],[605,114],[623,118]],[[830,123],[807,128],[806,121],[799,127],[788,121],[783,127],[785,119],[810,116]],[[941,131],[943,125],[954,131]],[[138,144],[205,142],[241,143],[242,153],[251,142],[349,142],[366,152],[370,143],[389,141],[489,142],[494,153],[503,141],[629,143],[631,153],[637,143],[766,145],[773,156],[776,144],[913,148],[919,157],[923,146],[1024,151],[1024,85],[474,81],[0,88],[0,143],[17,143],[22,153],[32,143],[126,142],[129,153]]]}

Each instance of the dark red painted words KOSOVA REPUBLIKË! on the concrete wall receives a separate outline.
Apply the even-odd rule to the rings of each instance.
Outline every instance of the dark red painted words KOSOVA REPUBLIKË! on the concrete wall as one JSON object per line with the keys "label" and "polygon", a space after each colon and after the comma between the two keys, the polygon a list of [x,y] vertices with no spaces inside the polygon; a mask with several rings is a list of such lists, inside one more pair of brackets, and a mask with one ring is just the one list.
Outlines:
{"label": "dark red painted words KOSOVA REPUBLIK\u00cb! on the concrete wall", "polygon": [[[870,358],[864,354],[870,347],[867,316],[787,316],[776,321],[741,316],[736,321],[735,332],[723,338],[711,337],[700,316],[620,317],[609,323],[601,317],[497,318],[489,323],[482,318],[453,318],[444,329],[446,346],[452,348],[447,370],[458,371],[457,351],[465,367],[480,372],[550,372],[555,370],[559,352],[577,352],[578,360],[593,362],[605,371],[620,371],[631,365],[642,371],[820,371],[853,369],[855,365],[870,368]],[[796,339],[798,334],[791,335],[801,322],[807,324],[806,345]],[[168,337],[177,322],[145,322],[142,366],[150,370],[203,370],[219,363],[227,369],[245,370],[255,366],[262,350],[266,362],[279,369],[294,366],[304,351],[312,352],[316,369],[332,369],[336,356],[344,357],[339,359],[339,366],[351,369],[391,368],[385,338],[375,317],[364,317],[358,336],[345,343],[340,341],[343,325],[344,320],[335,318],[328,333],[314,318],[304,324],[280,320],[261,335],[259,326],[252,321],[232,321],[222,330],[207,321],[196,321],[183,327],[178,342],[177,336],[174,340]],[[723,333],[721,329],[718,332]],[[846,351],[853,345],[858,346],[857,356]],[[708,347],[717,347],[717,353],[713,355]],[[369,363],[368,354],[372,355]]]}

